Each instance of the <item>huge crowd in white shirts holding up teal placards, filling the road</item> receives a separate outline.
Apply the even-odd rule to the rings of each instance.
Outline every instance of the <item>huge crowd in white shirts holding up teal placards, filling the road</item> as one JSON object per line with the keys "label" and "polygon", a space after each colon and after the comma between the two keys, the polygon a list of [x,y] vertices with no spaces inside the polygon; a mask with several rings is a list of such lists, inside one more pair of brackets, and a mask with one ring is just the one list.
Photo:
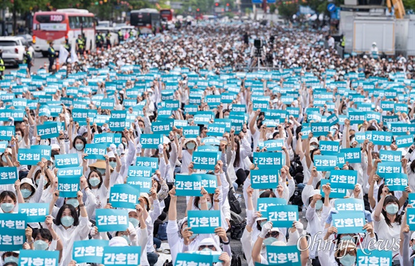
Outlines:
{"label": "huge crowd in white shirts holding up teal placards, filling the road", "polygon": [[[239,70],[257,60],[255,39],[274,70]],[[4,181],[0,171],[0,264],[19,265],[34,249],[59,251],[62,266],[87,265],[75,258],[77,241],[107,240],[140,247],[143,266],[182,265],[183,254],[217,256],[209,260],[223,266],[239,265],[238,256],[249,266],[412,265],[414,64],[403,56],[340,57],[320,32],[304,28],[199,23],[81,54],[59,69],[11,71],[0,82],[0,170],[15,167],[17,176]],[[58,126],[53,137],[44,130],[50,124]],[[93,151],[102,145],[104,153]],[[25,164],[40,148],[49,154]],[[149,168],[143,162],[156,165],[140,176],[147,190],[144,181],[133,184],[134,173]],[[80,171],[70,175],[71,196],[61,185],[68,166]],[[196,178],[215,186],[198,187]],[[133,207],[114,207],[112,193],[124,184],[146,192]],[[297,214],[283,226],[260,202]],[[355,207],[347,212],[339,202]],[[47,204],[48,214],[28,221],[21,248],[8,249],[6,214],[33,203]],[[126,210],[127,226],[102,231],[103,210]],[[194,213],[219,213],[220,222],[195,233]],[[353,215],[362,221],[347,220]],[[159,259],[162,243],[170,261]],[[232,252],[237,243],[243,254]],[[367,249],[374,255],[362,255]],[[370,264],[374,258],[384,264]]]}

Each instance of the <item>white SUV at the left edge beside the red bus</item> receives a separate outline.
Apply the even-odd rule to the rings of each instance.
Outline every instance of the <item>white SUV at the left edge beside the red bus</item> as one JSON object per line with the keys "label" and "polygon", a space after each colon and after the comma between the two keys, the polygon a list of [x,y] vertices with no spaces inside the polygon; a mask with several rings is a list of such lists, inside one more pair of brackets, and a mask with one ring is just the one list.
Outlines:
{"label": "white SUV at the left edge beside the red bus", "polygon": [[22,64],[25,46],[28,46],[28,42],[24,37],[0,37],[0,50],[3,50],[4,64],[13,66]]}

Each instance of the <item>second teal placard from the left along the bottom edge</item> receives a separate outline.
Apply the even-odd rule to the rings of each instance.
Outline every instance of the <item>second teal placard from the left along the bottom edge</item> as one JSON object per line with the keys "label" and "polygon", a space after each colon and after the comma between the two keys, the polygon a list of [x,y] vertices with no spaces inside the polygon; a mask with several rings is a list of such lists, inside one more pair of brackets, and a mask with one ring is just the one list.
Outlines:
{"label": "second teal placard from the left along the bottom edge", "polygon": [[77,263],[102,263],[104,247],[108,246],[108,240],[81,240],[73,243],[72,258]]}

